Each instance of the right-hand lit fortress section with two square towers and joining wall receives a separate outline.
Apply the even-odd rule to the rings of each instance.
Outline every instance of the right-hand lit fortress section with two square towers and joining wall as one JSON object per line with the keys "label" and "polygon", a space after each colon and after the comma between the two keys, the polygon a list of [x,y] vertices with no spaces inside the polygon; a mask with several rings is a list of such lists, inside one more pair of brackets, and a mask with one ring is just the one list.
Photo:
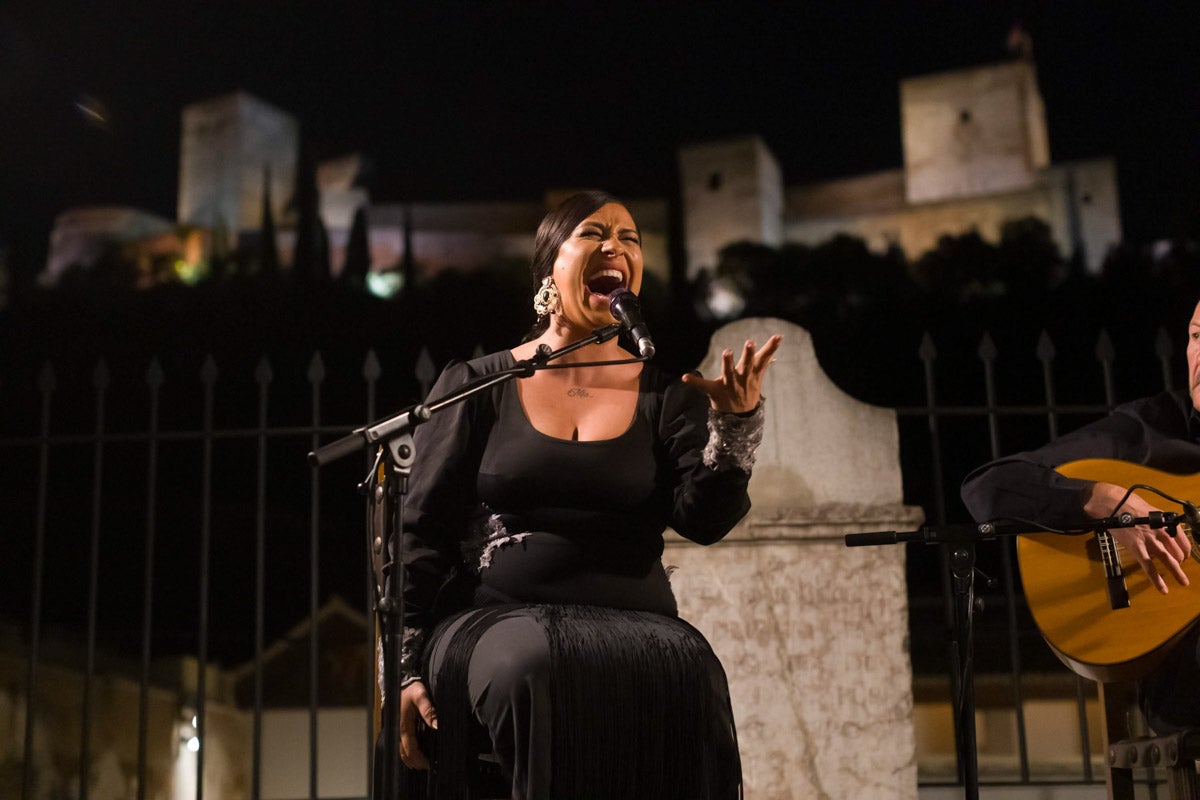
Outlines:
{"label": "right-hand lit fortress section with two square towers and joining wall", "polygon": [[738,239],[816,245],[845,233],[914,260],[943,235],[996,241],[1004,222],[1032,216],[1092,271],[1121,241],[1116,164],[1050,164],[1032,61],[904,80],[900,107],[901,169],[785,188],[757,137],[684,148],[688,276]]}

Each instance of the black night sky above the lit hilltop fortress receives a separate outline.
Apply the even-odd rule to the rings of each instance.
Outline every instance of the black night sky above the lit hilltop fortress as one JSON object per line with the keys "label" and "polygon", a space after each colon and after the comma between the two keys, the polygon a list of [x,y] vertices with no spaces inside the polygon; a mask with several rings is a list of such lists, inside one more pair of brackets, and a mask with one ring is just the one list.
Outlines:
{"label": "black night sky above the lit hilltop fortress", "polygon": [[[0,246],[53,216],[174,217],[180,112],[246,90],[389,200],[677,188],[674,152],[758,133],[788,184],[899,167],[898,80],[1032,36],[1055,161],[1118,160],[1128,237],[1200,231],[1195,2],[28,2],[0,6]],[[40,269],[36,264],[34,269]]]}

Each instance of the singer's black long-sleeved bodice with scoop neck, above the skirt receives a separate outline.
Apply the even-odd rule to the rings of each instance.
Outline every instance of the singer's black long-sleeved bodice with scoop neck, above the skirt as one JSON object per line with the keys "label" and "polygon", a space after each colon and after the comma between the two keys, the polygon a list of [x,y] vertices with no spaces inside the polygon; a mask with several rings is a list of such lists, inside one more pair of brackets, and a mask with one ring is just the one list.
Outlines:
{"label": "singer's black long-sleeved bodice with scoop neck, above the skirt", "polygon": [[[508,350],[450,365],[432,395],[512,365]],[[712,543],[750,507],[748,473],[701,461],[707,420],[702,392],[650,365],[630,426],[612,439],[539,432],[516,381],[436,414],[414,439],[402,537],[406,627],[427,630],[472,602],[673,615],[662,531],[670,525]]]}

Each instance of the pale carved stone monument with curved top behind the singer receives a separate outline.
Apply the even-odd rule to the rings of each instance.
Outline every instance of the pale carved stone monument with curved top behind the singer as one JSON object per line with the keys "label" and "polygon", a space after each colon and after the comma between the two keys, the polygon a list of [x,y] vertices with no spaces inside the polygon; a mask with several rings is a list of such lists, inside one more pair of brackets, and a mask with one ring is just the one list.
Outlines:
{"label": "pale carved stone monument with curved top behind the singer", "polygon": [[668,539],[664,564],[728,674],[746,798],[914,800],[905,551],[844,542],[923,522],[902,503],[895,411],[839,390],[778,319],[719,330],[701,372],[775,332],[754,507],[718,545]]}

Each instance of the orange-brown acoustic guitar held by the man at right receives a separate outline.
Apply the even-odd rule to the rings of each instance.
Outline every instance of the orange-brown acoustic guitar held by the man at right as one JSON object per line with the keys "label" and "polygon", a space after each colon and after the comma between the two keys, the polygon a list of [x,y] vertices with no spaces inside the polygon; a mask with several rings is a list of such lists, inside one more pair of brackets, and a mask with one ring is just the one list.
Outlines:
{"label": "orange-brown acoustic guitar held by the man at right", "polygon": [[[1200,474],[1172,475],[1102,458],[1070,462],[1056,471],[1117,486],[1144,483],[1181,500],[1200,501]],[[1157,509],[1175,510],[1152,492],[1138,489],[1136,494]],[[1187,633],[1200,618],[1200,547],[1196,531],[1186,524],[1181,530],[1192,541],[1183,563],[1190,585],[1181,587],[1164,576],[1170,589],[1165,595],[1106,534],[1018,536],[1016,559],[1030,612],[1063,663],[1096,681],[1132,680],[1152,669],[1165,656],[1166,645]]]}

